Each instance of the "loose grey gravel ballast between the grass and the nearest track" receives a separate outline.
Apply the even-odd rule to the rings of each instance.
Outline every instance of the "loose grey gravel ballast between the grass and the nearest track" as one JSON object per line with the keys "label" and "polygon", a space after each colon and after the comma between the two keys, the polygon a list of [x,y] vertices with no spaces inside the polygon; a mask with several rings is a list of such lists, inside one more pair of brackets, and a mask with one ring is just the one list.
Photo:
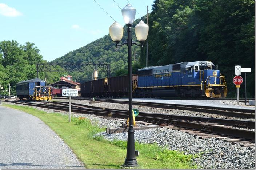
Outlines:
{"label": "loose grey gravel ballast between the grass and the nearest track", "polygon": [[[61,100],[63,101],[63,100]],[[89,101],[81,101],[83,104]],[[75,102],[72,100],[72,102]],[[96,104],[96,103],[95,103]],[[101,103],[97,106],[102,107]],[[113,107],[116,104],[113,104]],[[108,108],[112,104],[108,103]],[[126,106],[124,106],[126,107]],[[117,108],[123,109],[123,108]],[[40,110],[48,110],[40,108]],[[50,112],[51,113],[51,112]],[[68,114],[68,112],[61,112]],[[93,124],[100,127],[117,128],[121,126],[120,120],[103,119],[94,115],[72,114],[76,117],[87,117]],[[241,147],[239,144],[217,141],[216,138],[199,139],[184,132],[167,128],[154,128],[147,130],[135,131],[135,140],[139,143],[157,143],[159,146],[167,146],[171,150],[183,151],[184,154],[200,154],[200,157],[195,158],[195,163],[201,168],[255,168],[255,150],[248,147]],[[103,135],[107,140],[119,139],[127,140],[127,132],[118,134],[106,134],[105,132],[97,135]]]}

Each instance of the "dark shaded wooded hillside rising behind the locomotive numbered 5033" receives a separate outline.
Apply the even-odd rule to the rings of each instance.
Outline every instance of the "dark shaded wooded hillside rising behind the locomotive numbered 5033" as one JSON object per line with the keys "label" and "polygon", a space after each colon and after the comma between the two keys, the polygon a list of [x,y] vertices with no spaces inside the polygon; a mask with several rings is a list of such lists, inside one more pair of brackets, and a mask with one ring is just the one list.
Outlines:
{"label": "dark shaded wooded hillside rising behind the locomotive numbered 5033", "polygon": [[[252,69],[247,92],[254,97],[254,20],[253,0],[156,0],[149,16],[149,66],[212,61],[234,97],[235,65],[241,65]],[[145,65],[145,49],[140,63]]]}

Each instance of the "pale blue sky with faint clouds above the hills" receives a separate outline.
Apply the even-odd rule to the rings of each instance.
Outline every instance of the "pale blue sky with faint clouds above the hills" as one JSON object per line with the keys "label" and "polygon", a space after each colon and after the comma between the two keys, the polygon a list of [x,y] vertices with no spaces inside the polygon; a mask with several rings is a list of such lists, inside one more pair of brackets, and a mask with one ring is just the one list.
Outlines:
{"label": "pale blue sky with faint clouds above the hills", "polygon": [[[154,0],[95,0],[113,19],[125,25],[121,9],[128,1],[139,15],[152,11]],[[140,18],[136,13],[135,19]],[[3,0],[0,41],[35,43],[43,59],[59,58],[109,33],[114,22],[93,0]],[[114,45],[114,44],[113,44]]]}

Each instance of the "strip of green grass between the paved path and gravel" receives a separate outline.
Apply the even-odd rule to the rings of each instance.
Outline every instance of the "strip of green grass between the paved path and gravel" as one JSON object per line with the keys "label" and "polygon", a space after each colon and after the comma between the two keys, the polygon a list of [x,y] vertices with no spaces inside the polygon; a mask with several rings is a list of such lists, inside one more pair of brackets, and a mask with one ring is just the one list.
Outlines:
{"label": "strip of green grass between the paved path and gravel", "polygon": [[[40,118],[53,131],[55,131],[77,157],[89,169],[120,168],[126,156],[126,141],[107,141],[103,137],[93,137],[94,134],[105,131],[92,125],[87,119],[72,117],[71,123],[68,116],[59,113],[46,113],[28,106],[2,105],[22,110]],[[147,169],[188,169],[197,168],[192,165],[192,158],[196,155],[184,155],[178,151],[171,151],[153,144],[135,143],[140,155],[137,158],[139,168]]]}

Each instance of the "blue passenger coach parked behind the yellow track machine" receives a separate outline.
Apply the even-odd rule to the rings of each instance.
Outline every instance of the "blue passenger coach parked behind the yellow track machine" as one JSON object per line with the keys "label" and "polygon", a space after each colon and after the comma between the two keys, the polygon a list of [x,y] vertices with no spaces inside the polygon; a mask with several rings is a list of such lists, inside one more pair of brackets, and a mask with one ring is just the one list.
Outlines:
{"label": "blue passenger coach parked behind the yellow track machine", "polygon": [[21,81],[16,84],[16,94],[19,99],[27,98],[31,100],[35,93],[36,86],[45,86],[45,81],[39,78]]}

